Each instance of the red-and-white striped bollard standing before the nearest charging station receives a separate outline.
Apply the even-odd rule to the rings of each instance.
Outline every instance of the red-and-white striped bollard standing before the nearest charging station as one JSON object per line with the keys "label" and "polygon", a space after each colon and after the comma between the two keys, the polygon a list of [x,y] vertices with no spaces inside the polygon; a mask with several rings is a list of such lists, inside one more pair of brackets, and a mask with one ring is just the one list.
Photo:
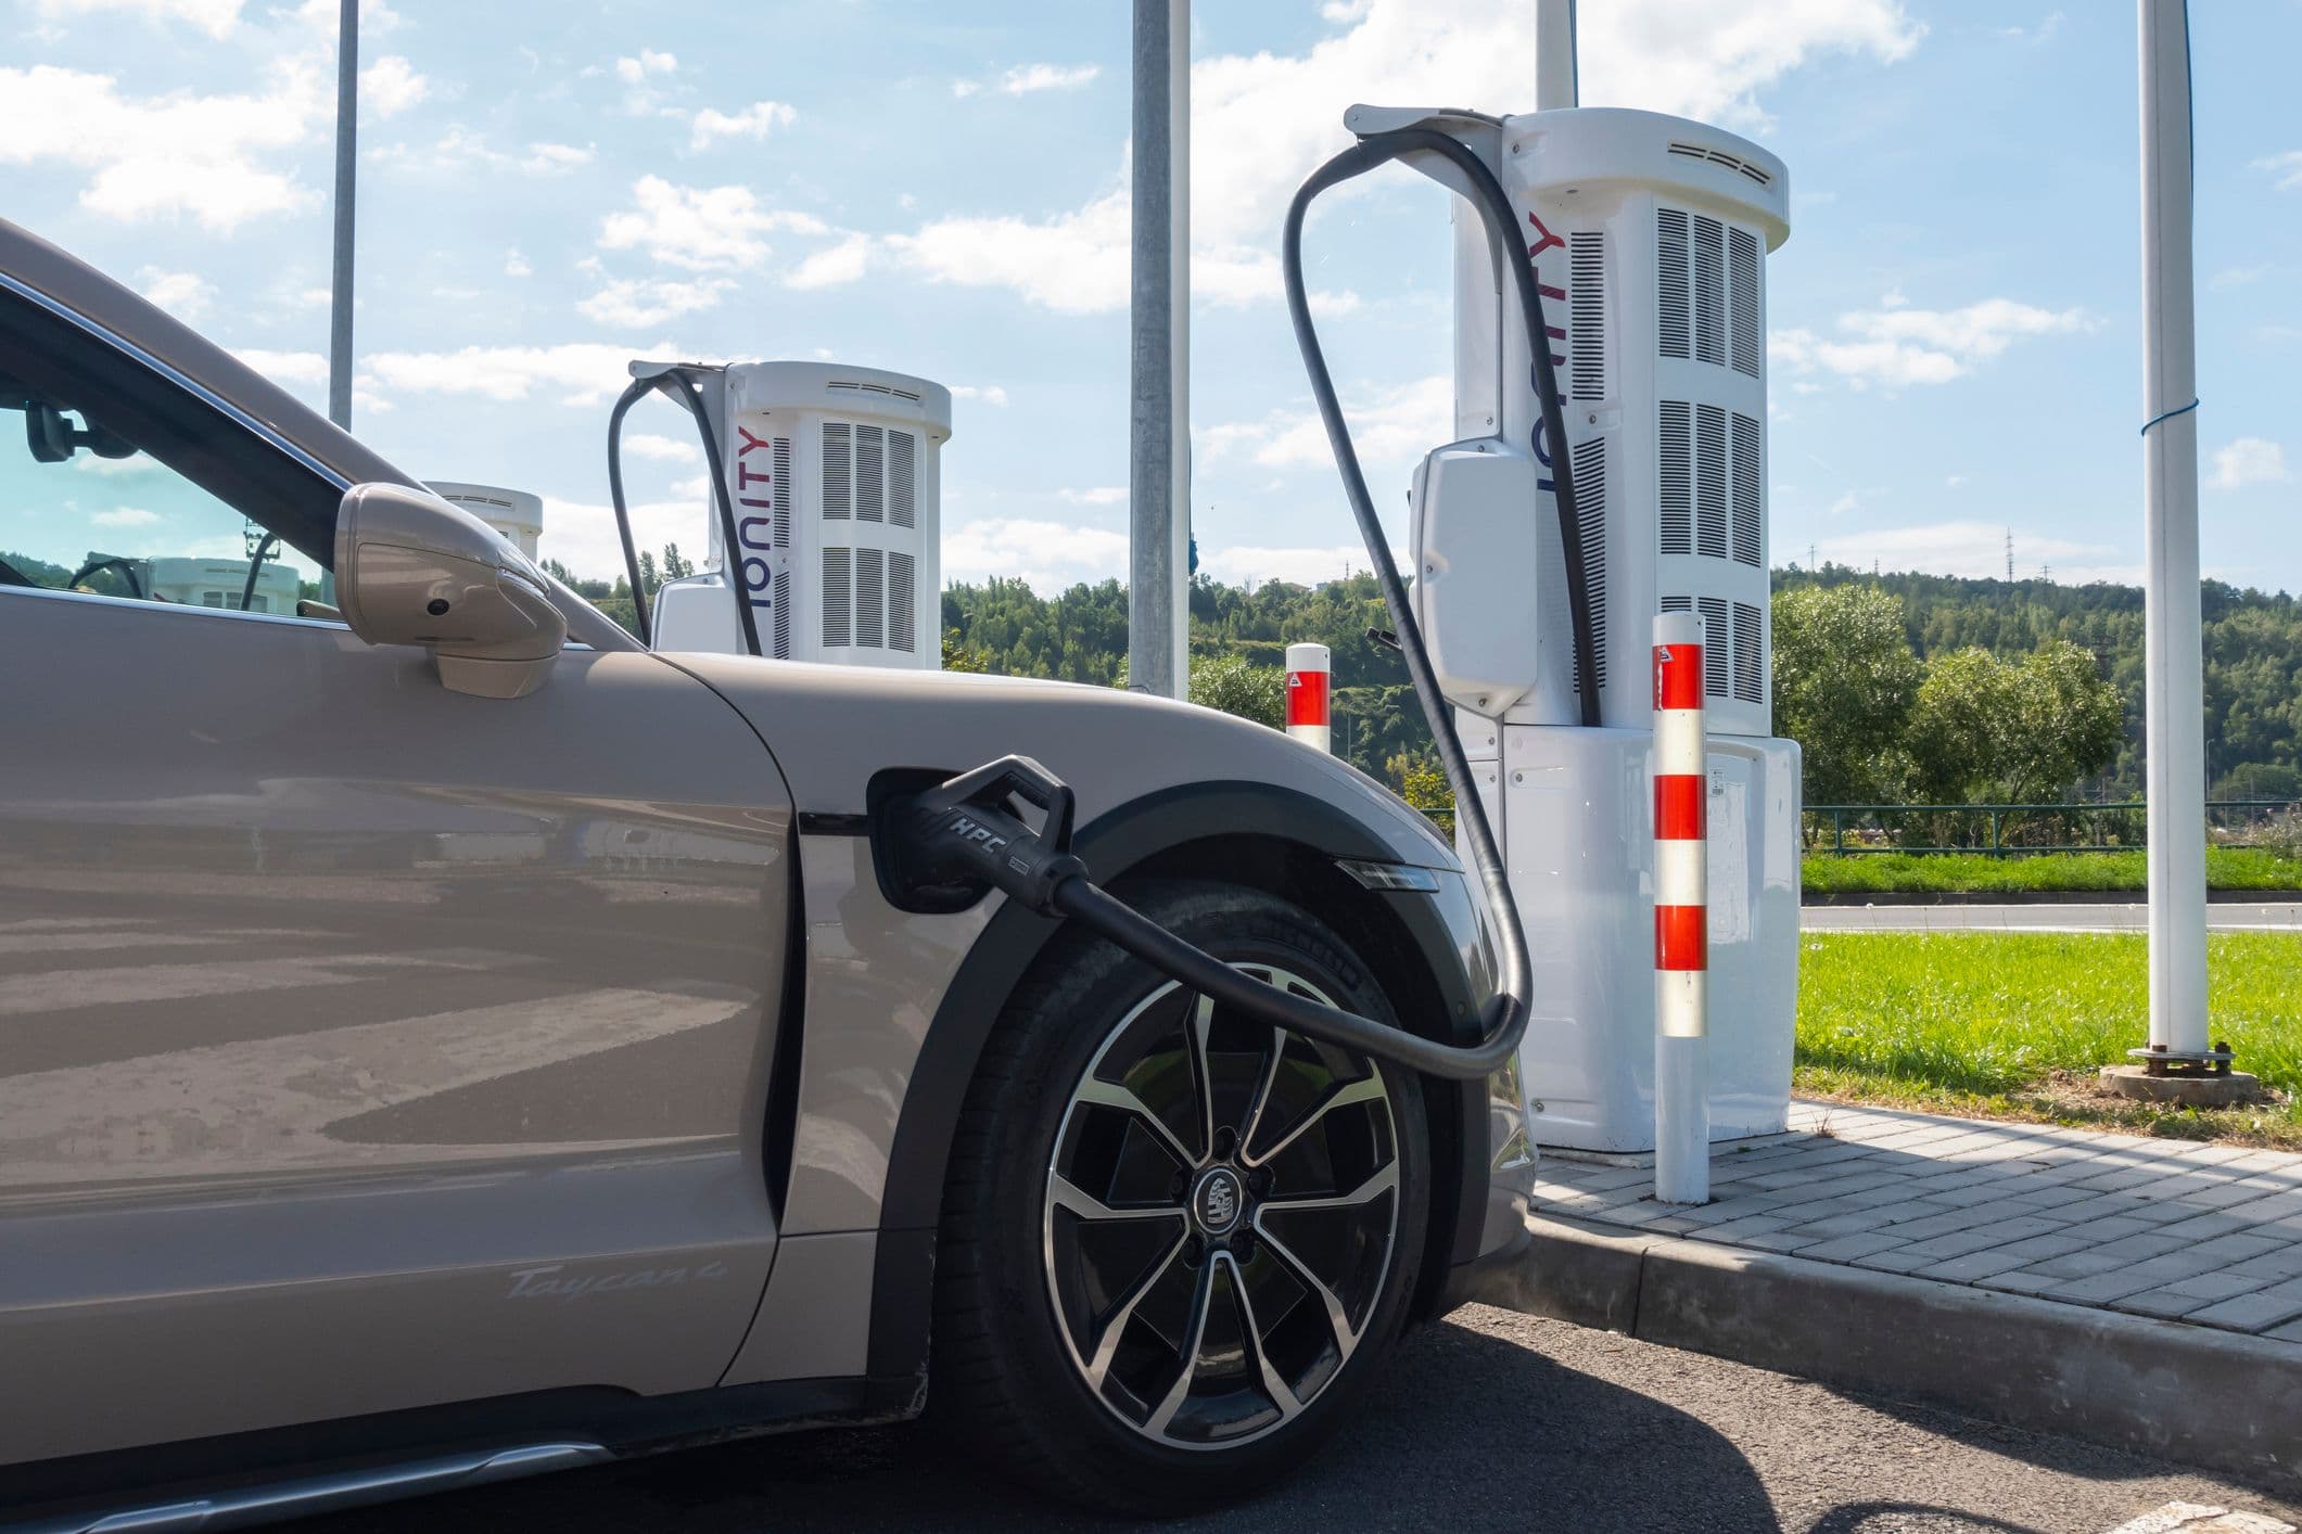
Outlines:
{"label": "red-and-white striped bollard standing before the nearest charging station", "polygon": [[1655,1198],[1710,1203],[1703,623],[1655,614]]}

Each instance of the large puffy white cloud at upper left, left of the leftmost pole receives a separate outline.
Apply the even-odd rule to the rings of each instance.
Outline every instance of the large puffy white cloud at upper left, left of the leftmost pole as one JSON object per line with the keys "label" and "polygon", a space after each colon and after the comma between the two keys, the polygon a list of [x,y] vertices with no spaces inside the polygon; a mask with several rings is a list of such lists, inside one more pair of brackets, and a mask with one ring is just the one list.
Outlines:
{"label": "large puffy white cloud at upper left, left of the leftmost pole", "polygon": [[311,60],[276,67],[265,94],[122,97],[108,74],[0,69],[0,166],[90,170],[81,207],[106,218],[193,216],[214,232],[313,202],[269,152],[304,145],[325,115]]}

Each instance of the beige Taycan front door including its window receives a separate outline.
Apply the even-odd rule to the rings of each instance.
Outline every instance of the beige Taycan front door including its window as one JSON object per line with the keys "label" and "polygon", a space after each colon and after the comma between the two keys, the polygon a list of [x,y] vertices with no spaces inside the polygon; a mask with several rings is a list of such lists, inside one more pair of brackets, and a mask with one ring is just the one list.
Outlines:
{"label": "beige Taycan front door including its window", "polygon": [[479,699],[297,616],[341,483],[5,283],[0,407],[0,1463],[711,1385],[773,1251],[760,738],[645,653]]}

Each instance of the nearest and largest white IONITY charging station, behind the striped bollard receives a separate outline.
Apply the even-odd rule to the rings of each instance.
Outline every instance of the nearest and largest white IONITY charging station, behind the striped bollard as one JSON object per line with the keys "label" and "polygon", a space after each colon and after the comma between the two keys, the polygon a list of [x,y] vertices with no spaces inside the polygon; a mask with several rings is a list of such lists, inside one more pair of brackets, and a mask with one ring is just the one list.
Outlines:
{"label": "nearest and largest white IONITY charging station, behind the striped bollard", "polygon": [[[1655,1148],[1657,612],[1692,614],[1703,644],[1710,1138],[1779,1132],[1800,816],[1798,745],[1768,734],[1766,255],[1789,237],[1784,166],[1639,110],[1351,108],[1344,122],[1363,138],[1446,133],[1494,172],[1558,377],[1552,442],[1501,267],[1519,253],[1499,253],[1457,195],[1459,442],[1416,471],[1413,605],[1533,957],[1531,1138]],[[1441,156],[1407,163],[1464,191]],[[1519,453],[1524,471],[1503,462]],[[1579,547],[1552,515],[1561,458]]]}

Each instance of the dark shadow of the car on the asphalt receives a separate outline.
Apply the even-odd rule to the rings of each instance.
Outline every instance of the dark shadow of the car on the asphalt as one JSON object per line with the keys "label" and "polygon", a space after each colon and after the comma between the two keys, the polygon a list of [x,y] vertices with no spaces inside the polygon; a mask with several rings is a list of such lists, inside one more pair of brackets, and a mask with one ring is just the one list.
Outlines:
{"label": "dark shadow of the car on the asphalt", "polygon": [[[1400,1343],[1354,1419],[1296,1479],[1172,1529],[1777,1529],[1766,1488],[1715,1428],[1531,1348],[1457,1325]],[[928,1426],[792,1433],[297,1525],[384,1529],[1107,1529],[997,1479]]]}

